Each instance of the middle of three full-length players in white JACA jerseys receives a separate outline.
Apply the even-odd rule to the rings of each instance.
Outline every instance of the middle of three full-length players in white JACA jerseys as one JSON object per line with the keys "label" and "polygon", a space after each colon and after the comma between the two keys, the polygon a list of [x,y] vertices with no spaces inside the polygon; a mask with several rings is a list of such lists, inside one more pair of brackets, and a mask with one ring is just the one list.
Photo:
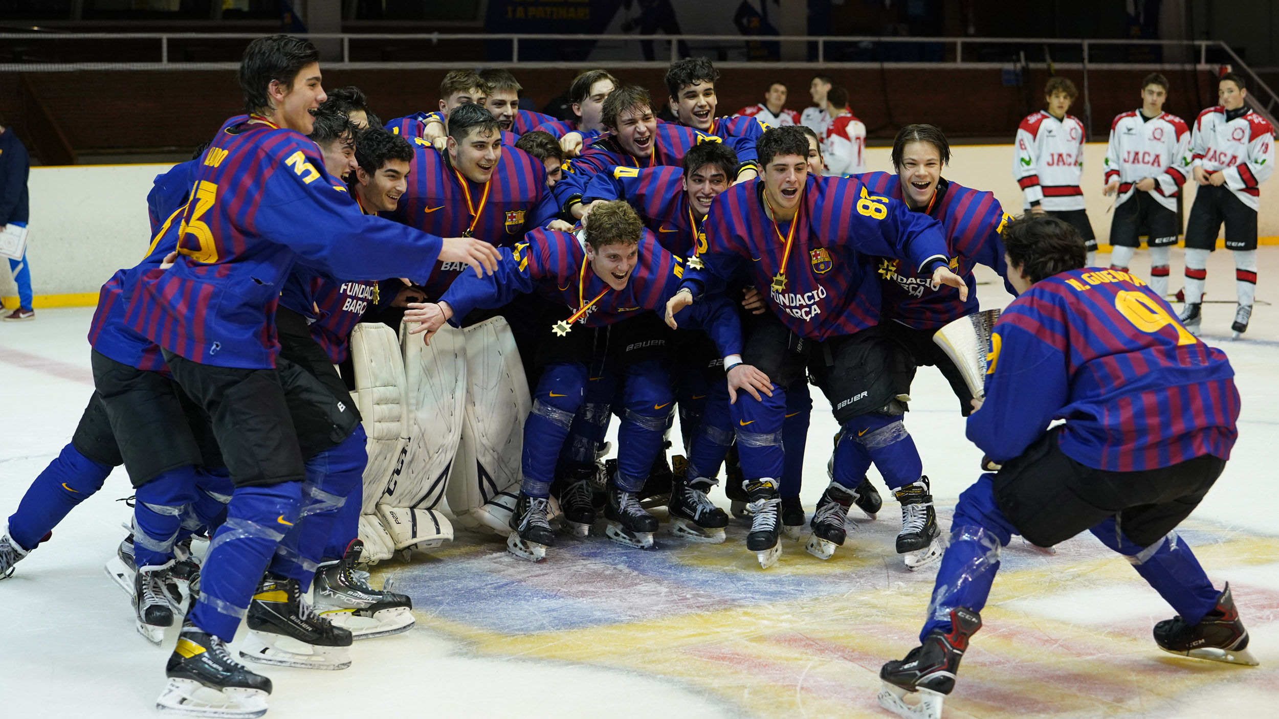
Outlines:
{"label": "middle of three full-length players in white JACA jerseys", "polygon": [[[1177,197],[1189,173],[1191,132],[1186,122],[1164,111],[1168,78],[1150,73],[1141,81],[1141,107],[1122,113],[1110,124],[1102,194],[1115,194],[1110,221],[1110,269],[1127,273],[1149,232],[1150,289],[1168,294],[1168,261],[1181,234]],[[1212,235],[1216,239],[1214,232]]]}

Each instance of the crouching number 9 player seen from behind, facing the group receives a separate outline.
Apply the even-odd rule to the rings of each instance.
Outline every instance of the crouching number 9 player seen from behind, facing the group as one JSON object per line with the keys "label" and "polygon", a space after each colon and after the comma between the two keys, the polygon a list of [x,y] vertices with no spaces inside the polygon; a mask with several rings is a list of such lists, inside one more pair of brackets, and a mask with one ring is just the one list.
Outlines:
{"label": "crouching number 9 player seen from behind, facing the group", "polygon": [[[1009,223],[1004,247],[1018,297],[994,328],[985,402],[968,417],[968,439],[1003,467],[959,495],[923,645],[880,670],[880,704],[907,718],[941,715],[1014,533],[1053,546],[1091,531],[1177,610],[1155,624],[1160,649],[1256,664],[1229,585],[1212,587],[1174,531],[1237,438],[1225,354],[1191,335],[1146,283],[1087,271],[1083,242],[1059,219]],[[1160,409],[1169,407],[1173,417]],[[1065,423],[1049,429],[1058,418]]]}

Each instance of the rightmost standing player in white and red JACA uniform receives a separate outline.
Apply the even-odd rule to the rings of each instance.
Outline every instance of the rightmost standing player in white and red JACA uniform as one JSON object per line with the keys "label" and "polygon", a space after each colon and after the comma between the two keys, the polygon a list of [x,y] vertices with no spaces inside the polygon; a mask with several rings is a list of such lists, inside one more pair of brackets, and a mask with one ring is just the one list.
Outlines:
{"label": "rightmost standing player in white and red JACA uniform", "polygon": [[1257,293],[1259,186],[1274,173],[1274,128],[1248,107],[1242,75],[1221,75],[1216,97],[1220,105],[1200,113],[1191,130],[1191,171],[1198,188],[1186,223],[1186,304],[1181,320],[1198,334],[1207,256],[1216,249],[1216,233],[1225,223],[1225,248],[1234,255],[1239,302],[1230,329],[1238,339],[1248,330]]}

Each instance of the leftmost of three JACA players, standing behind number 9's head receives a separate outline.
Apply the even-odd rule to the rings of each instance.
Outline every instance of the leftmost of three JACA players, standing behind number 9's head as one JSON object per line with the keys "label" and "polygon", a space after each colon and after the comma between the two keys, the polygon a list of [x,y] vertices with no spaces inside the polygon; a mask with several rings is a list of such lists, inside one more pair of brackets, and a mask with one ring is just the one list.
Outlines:
{"label": "leftmost of three JACA players, standing behind number 9's head", "polygon": [[1088,246],[1088,266],[1096,261],[1097,241],[1092,234],[1088,212],[1083,209],[1083,123],[1067,115],[1078,91],[1064,77],[1054,77],[1044,86],[1048,110],[1027,115],[1017,125],[1013,148],[1013,179],[1022,188],[1022,207],[1060,217]]}

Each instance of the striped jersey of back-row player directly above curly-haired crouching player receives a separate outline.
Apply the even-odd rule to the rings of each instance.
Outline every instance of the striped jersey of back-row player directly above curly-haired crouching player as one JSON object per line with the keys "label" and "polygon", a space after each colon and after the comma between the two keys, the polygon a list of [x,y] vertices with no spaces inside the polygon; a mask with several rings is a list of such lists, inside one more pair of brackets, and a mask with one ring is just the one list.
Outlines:
{"label": "striped jersey of back-row player directly above curly-haired crouching player", "polygon": [[[555,200],[559,202],[560,209],[568,210],[581,201],[582,193],[586,192],[586,184],[591,182],[591,177],[596,173],[609,171],[615,166],[679,166],[684,161],[684,154],[694,145],[702,142],[725,141],[718,136],[705,134],[677,123],[657,123],[652,154],[648,157],[638,159],[628,155],[614,136],[606,134],[592,142],[579,156],[564,165],[564,178],[555,183],[551,192],[555,193]],[[755,161],[753,139],[732,138],[726,142],[737,151],[738,162]]]}

